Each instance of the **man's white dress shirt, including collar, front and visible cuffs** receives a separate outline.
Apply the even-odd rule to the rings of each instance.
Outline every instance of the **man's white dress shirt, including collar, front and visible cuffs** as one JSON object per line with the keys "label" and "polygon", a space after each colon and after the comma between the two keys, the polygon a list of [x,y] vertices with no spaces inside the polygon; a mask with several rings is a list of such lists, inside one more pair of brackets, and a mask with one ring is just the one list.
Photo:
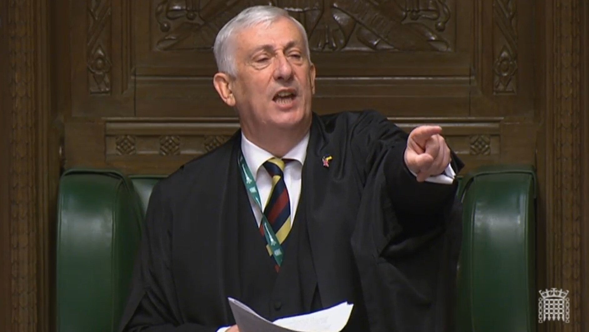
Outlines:
{"label": "man's white dress shirt, including collar, front and visible cuffs", "polygon": [[[289,192],[290,197],[291,226],[296,214],[296,208],[299,206],[301,175],[303,172],[303,165],[305,164],[305,157],[307,156],[307,145],[309,145],[308,132],[303,140],[299,142],[299,144],[295,145],[292,150],[287,152],[287,154],[282,157],[282,159],[291,160],[287,162],[286,165],[284,165],[284,184],[286,184],[286,190]],[[264,164],[264,162],[270,158],[274,158],[274,155],[264,150],[263,148],[258,147],[256,144],[253,144],[245,137],[245,135],[243,135],[243,132],[241,133],[241,152],[243,152],[243,157],[246,160],[247,167],[250,168],[250,172],[252,172],[252,175],[256,178],[256,185],[260,194],[260,201],[262,201],[262,204],[264,204],[262,207],[263,209],[266,206],[266,202],[270,196],[270,190],[272,190],[272,177],[268,171],[266,171],[266,168],[262,166],[262,164]],[[413,173],[413,175],[415,175],[415,173]],[[455,175],[456,174],[454,170],[452,170],[452,167],[448,164],[444,174],[429,177],[425,181],[440,184],[452,184]],[[252,211],[254,213],[254,217],[256,217],[257,226],[260,227],[260,223],[262,223],[262,211],[260,211],[256,201],[253,200],[252,195],[249,196],[250,205],[252,205]],[[230,326],[224,326],[219,328],[217,332],[225,332],[229,328]]]}

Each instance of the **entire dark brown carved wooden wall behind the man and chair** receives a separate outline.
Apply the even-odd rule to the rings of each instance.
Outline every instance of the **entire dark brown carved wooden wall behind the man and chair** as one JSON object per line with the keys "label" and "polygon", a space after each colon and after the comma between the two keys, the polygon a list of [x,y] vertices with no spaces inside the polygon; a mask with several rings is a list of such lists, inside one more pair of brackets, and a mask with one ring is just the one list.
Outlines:
{"label": "entire dark brown carved wooden wall behind the man and chair", "polygon": [[[64,168],[157,174],[237,128],[211,45],[261,1],[0,3],[0,330],[54,327],[55,197]],[[267,3],[267,1],[266,1]],[[589,117],[583,0],[274,1],[307,29],[313,111],[375,108],[444,127],[478,165],[538,170],[537,284],[570,290],[589,330]],[[5,327],[2,329],[2,327]]]}

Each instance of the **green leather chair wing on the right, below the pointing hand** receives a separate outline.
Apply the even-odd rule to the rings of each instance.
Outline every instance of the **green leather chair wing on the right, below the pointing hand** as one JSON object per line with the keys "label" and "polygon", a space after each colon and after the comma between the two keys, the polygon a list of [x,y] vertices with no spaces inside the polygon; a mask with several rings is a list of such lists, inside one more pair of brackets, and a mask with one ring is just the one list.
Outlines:
{"label": "green leather chair wing on the right, below the pointing hand", "polygon": [[482,167],[462,180],[459,332],[536,330],[535,186],[529,166]]}

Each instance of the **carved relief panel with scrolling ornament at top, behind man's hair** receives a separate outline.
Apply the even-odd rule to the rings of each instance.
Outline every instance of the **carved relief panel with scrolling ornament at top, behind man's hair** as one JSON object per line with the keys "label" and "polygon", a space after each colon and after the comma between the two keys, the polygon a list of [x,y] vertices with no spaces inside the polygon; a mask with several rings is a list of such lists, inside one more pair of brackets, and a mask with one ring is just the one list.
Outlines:
{"label": "carved relief panel with scrolling ornament at top, behind man's hair", "polygon": [[[209,51],[221,26],[252,2],[152,0],[152,5],[156,49]],[[275,1],[274,5],[302,22],[312,51],[447,52],[454,48],[453,0],[307,0]]]}

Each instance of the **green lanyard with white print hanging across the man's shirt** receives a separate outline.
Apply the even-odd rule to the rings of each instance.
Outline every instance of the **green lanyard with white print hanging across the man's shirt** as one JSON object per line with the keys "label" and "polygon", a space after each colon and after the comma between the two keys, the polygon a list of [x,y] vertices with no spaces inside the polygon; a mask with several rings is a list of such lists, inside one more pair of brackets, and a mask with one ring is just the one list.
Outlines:
{"label": "green lanyard with white print hanging across the man's shirt", "polygon": [[270,227],[270,223],[266,215],[264,214],[264,210],[262,208],[262,201],[260,200],[260,194],[257,190],[256,179],[253,177],[250,168],[247,167],[246,160],[243,157],[243,153],[239,154],[239,168],[241,170],[241,180],[243,180],[243,184],[246,186],[247,192],[252,195],[253,200],[256,202],[257,207],[260,209],[262,213],[262,227],[264,228],[264,237],[266,237],[266,242],[270,247],[270,251],[272,251],[272,256],[276,261],[278,266],[282,265],[282,245],[278,241],[276,234]]}

